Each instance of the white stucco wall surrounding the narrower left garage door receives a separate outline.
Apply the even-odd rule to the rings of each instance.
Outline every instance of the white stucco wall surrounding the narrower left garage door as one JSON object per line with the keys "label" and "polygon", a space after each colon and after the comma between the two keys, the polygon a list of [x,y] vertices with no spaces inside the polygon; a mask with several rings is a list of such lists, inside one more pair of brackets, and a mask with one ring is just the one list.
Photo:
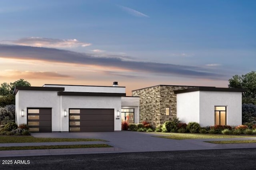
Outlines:
{"label": "white stucco wall surrounding the narrower left garage door", "polygon": [[[19,90],[16,94],[17,124],[27,124],[27,108],[52,108],[52,131],[60,131],[60,96],[56,91]],[[24,110],[24,117],[21,116]]]}

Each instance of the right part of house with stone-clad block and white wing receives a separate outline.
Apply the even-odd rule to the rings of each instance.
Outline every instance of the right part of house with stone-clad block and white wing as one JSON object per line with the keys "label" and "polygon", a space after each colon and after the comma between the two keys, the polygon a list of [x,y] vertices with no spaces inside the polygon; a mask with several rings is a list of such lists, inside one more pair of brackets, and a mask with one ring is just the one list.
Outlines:
{"label": "right part of house with stone-clad block and white wing", "polygon": [[156,85],[133,90],[140,97],[140,121],[163,124],[173,117],[201,126],[241,125],[244,89]]}

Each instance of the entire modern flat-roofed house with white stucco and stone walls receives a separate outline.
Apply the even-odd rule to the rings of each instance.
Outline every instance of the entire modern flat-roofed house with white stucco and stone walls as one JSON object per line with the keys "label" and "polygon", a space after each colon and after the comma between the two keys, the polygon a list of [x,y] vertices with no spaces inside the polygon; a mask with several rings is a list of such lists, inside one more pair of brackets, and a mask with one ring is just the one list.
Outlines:
{"label": "entire modern flat-roofed house with white stucco and stone walls", "polygon": [[16,123],[31,132],[109,132],[121,123],[181,121],[209,125],[242,123],[242,91],[216,87],[156,85],[132,91],[112,86],[16,87]]}

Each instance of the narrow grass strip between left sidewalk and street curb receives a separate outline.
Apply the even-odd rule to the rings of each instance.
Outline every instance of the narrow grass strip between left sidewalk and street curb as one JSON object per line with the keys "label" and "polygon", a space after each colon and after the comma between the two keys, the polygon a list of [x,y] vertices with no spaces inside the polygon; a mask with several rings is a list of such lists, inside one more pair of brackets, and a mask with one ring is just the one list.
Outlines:
{"label": "narrow grass strip between left sidewalk and street curb", "polygon": [[74,144],[52,146],[8,146],[0,147],[0,150],[34,150],[34,149],[72,149],[72,148],[110,148],[108,144]]}

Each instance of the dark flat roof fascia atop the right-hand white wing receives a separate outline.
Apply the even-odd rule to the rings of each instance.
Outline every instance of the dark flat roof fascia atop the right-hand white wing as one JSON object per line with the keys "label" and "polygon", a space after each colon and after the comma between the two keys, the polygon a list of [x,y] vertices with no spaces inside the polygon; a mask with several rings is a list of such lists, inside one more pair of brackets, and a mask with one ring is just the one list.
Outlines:
{"label": "dark flat roof fascia atop the right-hand white wing", "polygon": [[230,92],[244,92],[245,89],[237,89],[237,88],[222,88],[222,87],[195,87],[190,89],[184,90],[176,90],[174,91],[175,94],[179,93],[188,93],[193,91],[230,91]]}

